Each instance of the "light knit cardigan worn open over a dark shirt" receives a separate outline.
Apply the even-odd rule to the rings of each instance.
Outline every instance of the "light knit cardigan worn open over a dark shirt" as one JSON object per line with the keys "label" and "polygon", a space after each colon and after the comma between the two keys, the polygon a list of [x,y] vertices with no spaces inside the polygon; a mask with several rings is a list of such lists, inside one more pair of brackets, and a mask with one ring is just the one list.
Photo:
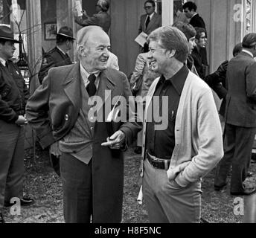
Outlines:
{"label": "light knit cardigan worn open over a dark shirt", "polygon": [[[157,78],[147,94],[146,114],[159,83]],[[167,112],[165,112],[167,116]],[[144,117],[143,152],[145,159],[146,120]],[[199,181],[223,158],[223,135],[214,97],[208,85],[191,71],[179,101],[175,125],[176,146],[168,173],[181,187]],[[142,174],[143,176],[143,168]],[[170,179],[170,177],[169,177]]]}

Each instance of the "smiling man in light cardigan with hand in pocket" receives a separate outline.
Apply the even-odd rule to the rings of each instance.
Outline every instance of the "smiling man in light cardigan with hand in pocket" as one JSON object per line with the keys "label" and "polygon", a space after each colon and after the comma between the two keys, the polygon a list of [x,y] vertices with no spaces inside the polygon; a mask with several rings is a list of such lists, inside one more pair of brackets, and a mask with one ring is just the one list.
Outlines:
{"label": "smiling man in light cardigan with hand in pocket", "polygon": [[[154,223],[199,222],[201,178],[223,157],[214,97],[185,65],[188,41],[179,29],[156,29],[149,42],[151,67],[161,74],[147,95],[144,120],[141,172],[149,219]],[[167,124],[159,129],[158,118],[150,112],[159,115],[166,103],[162,96],[167,96],[167,111],[162,115]],[[153,97],[160,104],[155,105]]]}

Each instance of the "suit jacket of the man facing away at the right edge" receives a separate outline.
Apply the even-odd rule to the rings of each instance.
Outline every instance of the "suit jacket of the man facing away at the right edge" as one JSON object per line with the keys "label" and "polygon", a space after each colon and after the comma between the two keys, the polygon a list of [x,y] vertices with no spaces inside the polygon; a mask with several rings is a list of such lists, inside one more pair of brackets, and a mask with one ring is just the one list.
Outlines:
{"label": "suit jacket of the man facing away at the right edge", "polygon": [[225,123],[256,127],[256,62],[241,52],[228,63]]}

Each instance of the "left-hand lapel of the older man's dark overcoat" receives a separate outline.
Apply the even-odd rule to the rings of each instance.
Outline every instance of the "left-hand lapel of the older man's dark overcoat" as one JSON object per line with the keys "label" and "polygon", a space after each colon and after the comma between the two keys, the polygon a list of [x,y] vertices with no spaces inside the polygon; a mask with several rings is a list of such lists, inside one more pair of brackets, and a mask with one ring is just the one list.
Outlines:
{"label": "left-hand lapel of the older man's dark overcoat", "polygon": [[80,107],[80,63],[77,62],[63,81],[63,89],[74,107]]}

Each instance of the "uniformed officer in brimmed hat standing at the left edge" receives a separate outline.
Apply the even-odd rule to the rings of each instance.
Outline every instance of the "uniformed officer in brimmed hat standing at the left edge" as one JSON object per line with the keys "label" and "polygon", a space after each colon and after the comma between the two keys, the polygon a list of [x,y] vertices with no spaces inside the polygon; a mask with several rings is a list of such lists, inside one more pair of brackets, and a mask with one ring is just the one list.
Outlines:
{"label": "uniformed officer in brimmed hat standing at the left edge", "polygon": [[16,50],[13,31],[0,26],[0,223],[1,209],[11,206],[12,198],[20,205],[31,205],[33,199],[22,198],[24,175],[24,125],[28,88],[19,68],[10,60]]}

